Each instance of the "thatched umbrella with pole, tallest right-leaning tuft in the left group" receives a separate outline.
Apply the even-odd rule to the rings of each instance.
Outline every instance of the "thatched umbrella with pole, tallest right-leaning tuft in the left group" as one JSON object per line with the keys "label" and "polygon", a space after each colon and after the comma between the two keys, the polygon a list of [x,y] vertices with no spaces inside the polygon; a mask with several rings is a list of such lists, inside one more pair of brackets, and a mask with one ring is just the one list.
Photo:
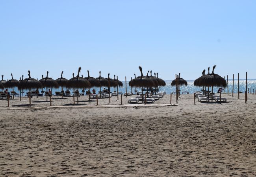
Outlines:
{"label": "thatched umbrella with pole, tallest right-leaning tuft in the left group", "polygon": [[[79,76],[79,73],[81,71],[81,67],[78,68],[78,74],[76,77],[73,77],[71,79],[69,79],[69,81],[67,82],[67,87],[68,88],[73,88],[74,90],[74,94],[73,94],[73,100],[74,100],[74,104],[75,104],[75,88],[78,89],[83,89],[83,88],[90,88],[91,84],[89,81],[87,81],[87,79],[84,79],[83,77]],[[78,103],[78,97],[77,97],[77,103]]]}

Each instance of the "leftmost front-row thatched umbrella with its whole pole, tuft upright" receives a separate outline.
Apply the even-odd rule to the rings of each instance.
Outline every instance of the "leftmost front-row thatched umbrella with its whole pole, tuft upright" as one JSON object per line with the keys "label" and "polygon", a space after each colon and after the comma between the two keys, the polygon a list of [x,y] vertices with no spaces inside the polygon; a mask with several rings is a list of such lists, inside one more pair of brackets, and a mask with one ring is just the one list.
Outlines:
{"label": "leftmost front-row thatched umbrella with its whole pole, tuft upright", "polygon": [[30,70],[28,70],[28,78],[20,81],[19,88],[20,89],[29,89],[29,104],[31,106],[31,89],[39,89],[43,87],[41,82],[37,81],[37,79],[33,79],[30,76]]}

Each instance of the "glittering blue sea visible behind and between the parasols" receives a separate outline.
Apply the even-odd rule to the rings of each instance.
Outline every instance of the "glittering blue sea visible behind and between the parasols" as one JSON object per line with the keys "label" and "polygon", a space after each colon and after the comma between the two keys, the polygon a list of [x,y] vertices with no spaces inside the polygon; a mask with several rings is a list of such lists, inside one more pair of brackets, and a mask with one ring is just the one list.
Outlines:
{"label": "glittering blue sea visible behind and between the parasols", "polygon": [[[166,82],[166,86],[165,87],[160,87],[159,88],[159,92],[166,92],[167,94],[173,93],[176,91],[176,87],[171,86],[171,82],[172,81],[165,81]],[[123,87],[119,87],[119,92],[125,93],[126,89],[127,92],[131,92],[131,87],[127,83],[125,84],[125,81],[122,81],[123,83]],[[126,87],[127,85],[127,87]],[[247,79],[247,88],[249,88],[249,92],[250,90],[252,90],[252,92],[256,91],[256,79]],[[95,89],[96,92],[98,92],[100,90],[100,88],[91,88],[90,90]],[[104,87],[101,88],[101,90],[104,89]],[[208,88],[207,88],[208,89]],[[213,92],[217,93],[217,90],[219,89],[219,87],[213,87]],[[223,88],[224,92],[230,92],[232,93],[233,90],[233,81],[228,80],[228,88]],[[245,93],[245,89],[246,89],[246,80],[245,79],[239,79],[239,91]],[[11,91],[12,89],[9,89],[9,91]],[[15,88],[14,89],[17,93],[19,93],[20,91]],[[46,90],[46,88],[44,88],[43,90]],[[67,90],[66,88],[64,88],[64,90]],[[70,91],[72,91],[72,89],[69,89]],[[86,89],[85,89],[86,90]],[[88,90],[88,89],[87,89]],[[117,88],[110,88],[110,91],[113,92],[114,90],[117,91]],[[136,88],[137,91],[141,91],[141,88]],[[189,94],[193,94],[195,91],[200,91],[201,87],[195,87],[194,86],[194,80],[187,80],[187,86],[180,86],[180,90],[181,92],[189,92]],[[211,90],[211,88],[210,88]],[[42,91],[42,89],[39,89],[39,91]],[[55,94],[56,91],[61,91],[61,88],[59,89],[52,89],[52,93]],[[135,93],[135,87],[132,88],[133,93]],[[24,92],[28,92],[28,90],[24,90]],[[79,92],[82,93],[82,89],[79,89]],[[234,80],[234,93],[238,92],[238,80],[235,79]]]}

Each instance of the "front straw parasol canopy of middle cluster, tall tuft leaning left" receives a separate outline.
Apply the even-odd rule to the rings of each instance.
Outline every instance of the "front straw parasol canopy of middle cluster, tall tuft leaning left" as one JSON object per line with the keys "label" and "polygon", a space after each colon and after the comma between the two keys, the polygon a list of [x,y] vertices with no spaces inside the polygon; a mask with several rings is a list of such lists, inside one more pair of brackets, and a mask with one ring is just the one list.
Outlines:
{"label": "front straw parasol canopy of middle cluster, tall tuft leaning left", "polygon": [[139,66],[139,70],[141,72],[141,76],[132,79],[129,82],[130,87],[154,87],[155,83],[147,76],[143,76],[142,68]]}

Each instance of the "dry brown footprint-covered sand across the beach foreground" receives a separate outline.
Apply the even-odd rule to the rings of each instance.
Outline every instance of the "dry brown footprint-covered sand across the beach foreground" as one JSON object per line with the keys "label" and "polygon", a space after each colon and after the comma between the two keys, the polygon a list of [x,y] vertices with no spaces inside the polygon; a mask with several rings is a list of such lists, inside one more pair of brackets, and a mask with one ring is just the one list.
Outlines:
{"label": "dry brown footprint-covered sand across the beach foreground", "polygon": [[33,98],[28,108],[22,98],[7,109],[0,100],[0,176],[256,176],[256,95],[248,96],[194,105],[182,95],[161,106],[165,95],[150,107],[118,107],[115,97],[113,107],[86,107],[96,103],[83,97],[80,107]]}

